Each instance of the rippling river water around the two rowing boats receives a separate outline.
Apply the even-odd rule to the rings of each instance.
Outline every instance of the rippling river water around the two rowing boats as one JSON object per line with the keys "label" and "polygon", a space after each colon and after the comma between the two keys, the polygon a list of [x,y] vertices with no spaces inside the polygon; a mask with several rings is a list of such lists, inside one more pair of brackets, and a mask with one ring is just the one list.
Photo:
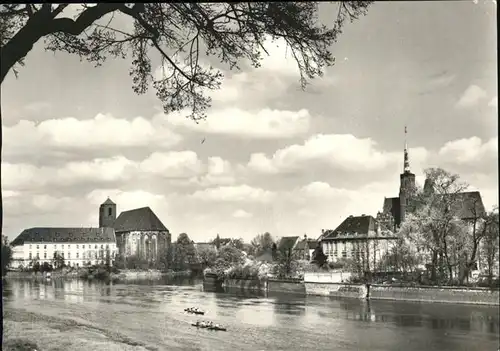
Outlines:
{"label": "rippling river water around the two rowing boats", "polygon": [[[183,312],[206,310],[200,318]],[[45,350],[496,351],[497,307],[203,292],[200,281],[3,281],[4,340]],[[198,330],[197,319],[227,326]]]}

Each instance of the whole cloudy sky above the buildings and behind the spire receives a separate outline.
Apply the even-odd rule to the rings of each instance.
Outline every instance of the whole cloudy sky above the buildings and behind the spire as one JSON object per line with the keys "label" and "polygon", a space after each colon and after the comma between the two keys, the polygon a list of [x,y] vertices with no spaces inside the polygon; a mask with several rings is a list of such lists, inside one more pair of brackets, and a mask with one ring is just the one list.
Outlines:
{"label": "whole cloudy sky above the buildings and behind the spire", "polygon": [[378,2],[305,91],[280,42],[258,69],[204,58],[225,79],[199,124],[165,115],[153,89],[136,95],[130,60],[94,68],[39,43],[2,84],[3,233],[96,227],[110,197],[118,212],[151,207],[174,239],[318,237],[398,195],[405,125],[420,184],[442,167],[491,209],[496,43],[496,2]]}

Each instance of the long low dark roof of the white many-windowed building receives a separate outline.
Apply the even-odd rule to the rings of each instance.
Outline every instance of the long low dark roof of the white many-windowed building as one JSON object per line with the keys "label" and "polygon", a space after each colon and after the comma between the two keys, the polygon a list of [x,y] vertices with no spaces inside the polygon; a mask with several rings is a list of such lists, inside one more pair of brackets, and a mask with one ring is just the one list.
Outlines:
{"label": "long low dark roof of the white many-windowed building", "polygon": [[24,242],[110,242],[115,241],[113,228],[49,228],[37,227],[22,231],[12,246]]}

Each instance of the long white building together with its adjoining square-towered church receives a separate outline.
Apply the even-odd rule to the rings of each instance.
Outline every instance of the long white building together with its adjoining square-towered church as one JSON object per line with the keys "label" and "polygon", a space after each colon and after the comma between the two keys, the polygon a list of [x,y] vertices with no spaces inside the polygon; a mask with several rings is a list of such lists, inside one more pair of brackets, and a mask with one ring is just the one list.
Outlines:
{"label": "long white building together with its adjoining square-towered church", "polygon": [[169,247],[168,229],[149,207],[122,212],[109,198],[99,207],[99,228],[37,227],[23,230],[14,241],[13,268],[34,262],[54,263],[62,258],[68,266],[113,261],[116,255],[157,261]]}

